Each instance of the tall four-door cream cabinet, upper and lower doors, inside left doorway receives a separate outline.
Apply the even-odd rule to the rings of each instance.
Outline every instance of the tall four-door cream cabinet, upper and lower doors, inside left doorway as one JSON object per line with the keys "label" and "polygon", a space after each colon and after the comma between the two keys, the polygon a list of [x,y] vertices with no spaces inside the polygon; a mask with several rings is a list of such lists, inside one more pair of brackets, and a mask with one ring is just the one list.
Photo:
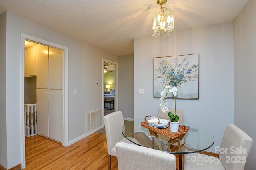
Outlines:
{"label": "tall four-door cream cabinet, upper and lower doors, inside left doorway", "polygon": [[36,55],[38,134],[62,142],[63,52],[38,45]]}

